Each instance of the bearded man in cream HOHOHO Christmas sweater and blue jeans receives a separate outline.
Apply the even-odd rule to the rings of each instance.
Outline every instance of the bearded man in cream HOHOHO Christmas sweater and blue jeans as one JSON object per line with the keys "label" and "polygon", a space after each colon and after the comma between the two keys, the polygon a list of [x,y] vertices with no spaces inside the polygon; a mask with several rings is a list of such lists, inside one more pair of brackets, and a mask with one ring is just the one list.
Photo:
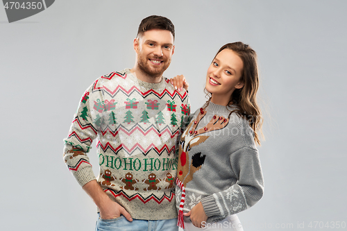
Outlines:
{"label": "bearded man in cream HOHOHO Christmas sweater and blue jeans", "polygon": [[[78,106],[64,160],[98,207],[96,230],[178,230],[175,146],[189,99],[162,77],[174,36],[166,17],[143,19],[133,42],[134,67],[98,78]],[[87,157],[96,137],[98,180]]]}

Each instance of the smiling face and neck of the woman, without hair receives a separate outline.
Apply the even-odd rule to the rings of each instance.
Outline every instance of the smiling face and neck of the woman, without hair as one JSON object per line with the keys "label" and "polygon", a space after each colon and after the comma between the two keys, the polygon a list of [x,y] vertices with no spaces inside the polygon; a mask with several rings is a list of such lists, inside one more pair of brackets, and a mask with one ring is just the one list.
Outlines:
{"label": "smiling face and neck of the woman, without hair", "polygon": [[232,92],[244,86],[240,82],[243,68],[244,63],[235,51],[223,49],[217,54],[206,76],[206,89],[212,94],[212,103],[225,104],[226,101],[228,104]]}

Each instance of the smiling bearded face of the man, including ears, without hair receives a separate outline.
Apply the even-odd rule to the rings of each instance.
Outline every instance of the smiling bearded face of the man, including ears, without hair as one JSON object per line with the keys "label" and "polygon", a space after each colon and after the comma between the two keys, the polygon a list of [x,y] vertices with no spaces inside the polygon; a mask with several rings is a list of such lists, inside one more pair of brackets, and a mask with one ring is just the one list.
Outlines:
{"label": "smiling bearded face of the man, including ears, without hair", "polygon": [[162,76],[174,54],[174,36],[170,31],[151,30],[134,40],[137,65],[149,76]]}

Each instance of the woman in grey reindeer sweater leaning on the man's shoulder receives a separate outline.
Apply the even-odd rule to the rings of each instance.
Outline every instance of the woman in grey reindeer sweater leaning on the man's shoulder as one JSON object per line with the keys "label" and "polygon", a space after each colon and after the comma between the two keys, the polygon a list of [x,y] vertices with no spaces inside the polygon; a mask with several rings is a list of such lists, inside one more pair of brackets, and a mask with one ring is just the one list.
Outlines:
{"label": "woman in grey reindeer sweater leaning on the man's shoulder", "polygon": [[[184,76],[171,83],[187,87]],[[236,214],[262,198],[255,146],[262,126],[258,85],[255,51],[242,42],[222,46],[206,76],[210,99],[180,138],[176,206],[181,228],[243,230]]]}

